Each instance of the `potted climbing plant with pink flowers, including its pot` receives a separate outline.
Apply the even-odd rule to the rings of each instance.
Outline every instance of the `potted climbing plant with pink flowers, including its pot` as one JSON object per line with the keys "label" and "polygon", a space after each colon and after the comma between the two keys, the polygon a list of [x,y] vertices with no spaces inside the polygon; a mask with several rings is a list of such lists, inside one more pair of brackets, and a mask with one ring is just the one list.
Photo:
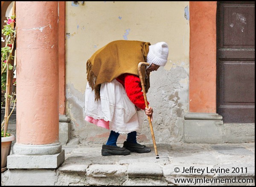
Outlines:
{"label": "potted climbing plant with pink flowers, including its pot", "polygon": [[[15,8],[15,7],[13,7]],[[1,42],[4,42],[4,47],[1,47],[1,92],[5,92],[5,102],[1,101],[1,108],[5,104],[5,115],[1,123],[1,172],[7,170],[7,156],[10,154],[12,141],[15,136],[8,133],[8,121],[15,109],[16,94],[12,92],[13,75],[15,70],[15,15],[4,21]],[[10,86],[11,85],[11,86]],[[10,106],[13,105],[10,111]]]}

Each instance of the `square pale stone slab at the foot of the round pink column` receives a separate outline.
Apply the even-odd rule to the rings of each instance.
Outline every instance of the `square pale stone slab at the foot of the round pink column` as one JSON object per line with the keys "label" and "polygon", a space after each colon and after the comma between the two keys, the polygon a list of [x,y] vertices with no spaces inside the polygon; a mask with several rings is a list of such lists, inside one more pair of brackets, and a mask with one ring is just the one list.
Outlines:
{"label": "square pale stone slab at the foot of the round pink column", "polygon": [[65,160],[65,152],[54,155],[16,155],[7,156],[9,169],[55,169]]}

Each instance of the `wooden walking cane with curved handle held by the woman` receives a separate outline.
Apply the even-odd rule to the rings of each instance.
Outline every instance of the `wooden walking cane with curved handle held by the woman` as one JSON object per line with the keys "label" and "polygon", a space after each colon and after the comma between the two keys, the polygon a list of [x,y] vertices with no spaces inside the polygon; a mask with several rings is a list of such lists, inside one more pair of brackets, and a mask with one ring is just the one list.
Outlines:
{"label": "wooden walking cane with curved handle held by the woman", "polygon": [[[138,72],[139,72],[139,76],[140,76],[140,83],[141,83],[141,86],[142,86],[144,101],[145,101],[146,108],[148,108],[148,100],[147,100],[147,95],[146,95],[146,91],[145,91],[145,84],[144,84],[144,81],[143,81],[144,79],[143,79],[143,75],[142,75],[142,72],[141,72],[141,66],[149,66],[149,63],[140,62],[138,64]],[[149,127],[150,127],[150,130],[151,130],[151,136],[152,136],[152,140],[153,140],[154,150],[155,150],[155,153],[156,153],[156,158],[159,158],[159,155],[157,153],[157,144],[156,144],[156,140],[154,138],[154,131],[153,131],[153,126],[152,126],[152,122],[151,122],[151,117],[149,115],[148,115],[148,122],[149,122]]]}

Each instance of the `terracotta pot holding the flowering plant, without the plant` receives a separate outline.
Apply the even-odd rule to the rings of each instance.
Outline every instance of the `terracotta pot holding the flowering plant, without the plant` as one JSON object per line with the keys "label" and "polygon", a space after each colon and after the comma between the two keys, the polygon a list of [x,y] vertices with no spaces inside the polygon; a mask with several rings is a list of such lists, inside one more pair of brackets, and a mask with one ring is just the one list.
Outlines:
{"label": "terracotta pot holding the flowering plant, without the plant", "polygon": [[12,141],[15,136],[1,137],[1,172],[7,170],[7,156],[10,155]]}

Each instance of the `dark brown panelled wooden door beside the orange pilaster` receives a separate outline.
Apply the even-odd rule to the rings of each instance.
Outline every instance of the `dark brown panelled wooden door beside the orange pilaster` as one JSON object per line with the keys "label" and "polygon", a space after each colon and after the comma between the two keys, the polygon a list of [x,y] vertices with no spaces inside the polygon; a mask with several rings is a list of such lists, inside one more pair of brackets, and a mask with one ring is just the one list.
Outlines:
{"label": "dark brown panelled wooden door beside the orange pilaster", "polygon": [[255,123],[255,3],[217,3],[217,113]]}

